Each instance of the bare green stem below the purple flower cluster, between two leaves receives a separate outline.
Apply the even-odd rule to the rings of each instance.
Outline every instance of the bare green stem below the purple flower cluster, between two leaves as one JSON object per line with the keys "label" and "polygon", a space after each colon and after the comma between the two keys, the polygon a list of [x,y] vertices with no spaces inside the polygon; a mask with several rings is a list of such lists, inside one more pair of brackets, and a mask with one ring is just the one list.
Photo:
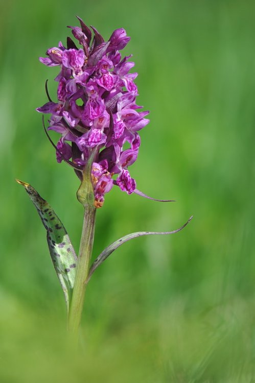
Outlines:
{"label": "bare green stem below the purple flower cluster, between two leaves", "polygon": [[95,216],[96,208],[94,206],[86,206],[84,208],[84,220],[78,256],[77,274],[68,317],[68,330],[72,333],[72,338],[75,343],[78,341],[78,331],[87,286],[86,279],[89,272],[89,264],[94,242]]}

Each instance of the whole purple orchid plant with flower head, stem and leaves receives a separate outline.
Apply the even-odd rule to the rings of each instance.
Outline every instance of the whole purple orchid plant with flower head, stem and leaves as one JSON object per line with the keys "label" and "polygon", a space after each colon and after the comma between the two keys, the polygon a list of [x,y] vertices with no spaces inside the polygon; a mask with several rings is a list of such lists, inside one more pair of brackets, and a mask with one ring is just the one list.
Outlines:
{"label": "whole purple orchid plant with flower head, stem and leaves", "polygon": [[[29,194],[47,230],[50,254],[62,286],[68,313],[68,329],[77,338],[86,285],[99,265],[122,243],[148,234],[168,232],[136,232],[108,246],[90,265],[94,242],[95,214],[104,204],[105,195],[118,186],[127,194],[136,193],[150,200],[136,188],[129,167],[137,160],[141,145],[139,131],[145,128],[148,111],[136,104],[138,95],[134,82],[137,73],[130,73],[131,55],[121,57],[120,51],[130,41],[123,28],[113,31],[108,41],[94,27],[79,18],[80,27],[69,26],[76,42],[67,37],[66,46],[59,42],[39,60],[47,66],[59,66],[55,81],[57,101],[37,108],[50,114],[49,126],[43,126],[56,150],[57,162],[71,165],[81,181],[77,198],[84,207],[84,222],[78,257],[61,221],[50,205],[28,183],[18,181]],[[94,34],[94,37],[92,35]],[[48,131],[60,137],[55,144]]]}

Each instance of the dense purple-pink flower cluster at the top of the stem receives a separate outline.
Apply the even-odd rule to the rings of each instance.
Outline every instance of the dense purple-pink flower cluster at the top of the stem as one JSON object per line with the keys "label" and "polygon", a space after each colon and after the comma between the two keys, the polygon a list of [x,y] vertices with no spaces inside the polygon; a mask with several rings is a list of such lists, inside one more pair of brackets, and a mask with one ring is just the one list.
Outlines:
{"label": "dense purple-pink flower cluster at the top of the stem", "polygon": [[[55,79],[58,102],[50,100],[37,111],[51,113],[48,129],[61,134],[56,146],[58,162],[72,163],[79,172],[91,152],[96,152],[91,178],[95,206],[100,207],[113,182],[128,194],[134,192],[135,180],[127,168],[137,158],[137,132],[149,123],[144,118],[149,112],[137,111],[142,107],[135,103],[137,73],[129,73],[134,66],[128,61],[131,56],[121,59],[119,51],[130,40],[125,30],[115,30],[105,42],[93,27],[92,38],[91,30],[78,19],[81,27],[69,28],[81,47],[68,37],[67,47],[59,42],[47,51],[48,57],[39,59],[47,66],[59,65],[60,73]],[[128,149],[127,144],[124,149],[125,142]]]}

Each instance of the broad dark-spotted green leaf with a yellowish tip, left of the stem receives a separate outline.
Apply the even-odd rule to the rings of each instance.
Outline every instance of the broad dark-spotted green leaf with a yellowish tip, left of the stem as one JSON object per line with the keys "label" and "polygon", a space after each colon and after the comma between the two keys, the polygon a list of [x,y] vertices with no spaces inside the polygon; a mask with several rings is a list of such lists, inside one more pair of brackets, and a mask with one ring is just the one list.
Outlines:
{"label": "broad dark-spotted green leaf with a yellowish tip, left of the stem", "polygon": [[68,289],[73,289],[77,256],[69,236],[52,207],[36,192],[36,190],[28,183],[16,180],[20,185],[25,187],[29,198],[35,205],[41,222],[47,231],[47,242],[56,270],[59,282],[64,292],[66,308],[68,312],[69,297]]}

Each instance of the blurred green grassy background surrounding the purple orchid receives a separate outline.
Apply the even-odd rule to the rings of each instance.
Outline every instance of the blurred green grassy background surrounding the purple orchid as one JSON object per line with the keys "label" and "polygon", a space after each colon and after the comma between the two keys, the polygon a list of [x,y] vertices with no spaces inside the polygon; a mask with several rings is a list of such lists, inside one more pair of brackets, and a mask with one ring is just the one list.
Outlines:
{"label": "blurred green grassy background surrounding the purple orchid", "polygon": [[[31,183],[59,214],[76,249],[78,179],[58,164],[35,108],[47,101],[39,61],[65,41],[75,15],[108,39],[125,28],[150,110],[130,168],[160,204],[114,188],[97,212],[94,257],[137,238],[94,274],[82,350],[70,354],[65,307]],[[1,0],[0,381],[253,382],[255,368],[255,3],[252,1]]]}

